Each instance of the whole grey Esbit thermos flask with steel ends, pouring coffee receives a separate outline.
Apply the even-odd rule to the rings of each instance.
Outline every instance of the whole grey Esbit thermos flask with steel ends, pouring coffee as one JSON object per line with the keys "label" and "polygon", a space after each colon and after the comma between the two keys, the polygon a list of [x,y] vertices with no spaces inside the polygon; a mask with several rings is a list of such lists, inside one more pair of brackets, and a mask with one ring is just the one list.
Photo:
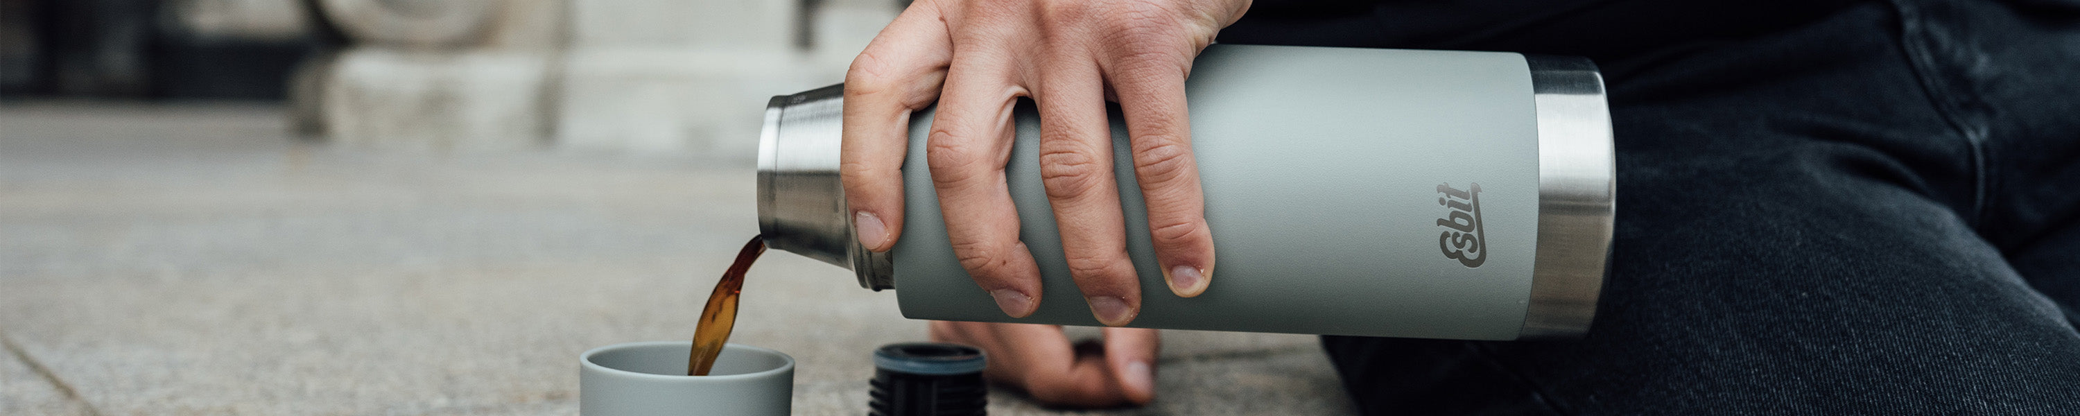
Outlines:
{"label": "whole grey Esbit thermos flask with steel ends, pouring coffee", "polygon": [[[1192,150],[1219,256],[1198,297],[1169,293],[1113,112],[1129,327],[1435,339],[1589,329],[1616,191],[1610,110],[1587,58],[1510,52],[1211,46],[1188,81]],[[863,250],[838,183],[842,85],[778,96],[759,137],[759,231],[776,250],[894,289],[903,316],[1098,324],[1069,279],[1040,181],[1038,114],[1017,108],[1005,166],[1040,308],[1005,316],[955,260],[911,116],[903,235]]]}

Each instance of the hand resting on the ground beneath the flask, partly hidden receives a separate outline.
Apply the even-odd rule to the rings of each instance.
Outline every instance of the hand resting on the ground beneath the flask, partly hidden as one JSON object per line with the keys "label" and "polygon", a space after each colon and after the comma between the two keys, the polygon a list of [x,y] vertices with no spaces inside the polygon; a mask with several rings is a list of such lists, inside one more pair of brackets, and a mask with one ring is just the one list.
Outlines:
{"label": "hand resting on the ground beneath the flask, partly hidden", "polygon": [[982,347],[990,358],[984,376],[1040,404],[1113,408],[1156,397],[1154,329],[1104,329],[1102,349],[1092,352],[1071,345],[1055,324],[932,320],[932,341]]}

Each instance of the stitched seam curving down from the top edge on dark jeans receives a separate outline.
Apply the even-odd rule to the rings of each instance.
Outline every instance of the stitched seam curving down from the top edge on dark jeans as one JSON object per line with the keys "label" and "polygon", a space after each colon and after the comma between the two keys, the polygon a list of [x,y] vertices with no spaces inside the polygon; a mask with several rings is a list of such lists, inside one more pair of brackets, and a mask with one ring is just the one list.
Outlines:
{"label": "stitched seam curving down from the top edge on dark jeans", "polygon": [[1891,4],[1895,17],[1899,19],[1899,52],[1907,60],[1907,71],[1914,73],[1914,79],[1922,87],[1922,96],[1928,100],[1928,106],[1943,116],[1943,121],[1951,127],[1951,131],[1957,133],[1966,141],[1966,148],[1970,148],[1972,152],[1970,156],[1972,212],[1970,216],[1966,216],[1966,223],[1974,231],[1982,231],[1988,210],[1986,193],[1988,187],[1993,187],[1993,173],[1986,166],[1986,152],[1988,152],[1986,129],[1984,125],[1976,125],[1961,114],[1966,112],[1961,108],[1964,104],[1955,100],[1945,100],[1941,94],[1936,94],[1945,92],[1951,85],[1945,79],[1939,79],[1943,71],[1934,58],[1934,52],[1928,46],[1926,40],[1928,23],[1922,19],[1918,4],[1912,4],[1912,0],[1891,0]]}

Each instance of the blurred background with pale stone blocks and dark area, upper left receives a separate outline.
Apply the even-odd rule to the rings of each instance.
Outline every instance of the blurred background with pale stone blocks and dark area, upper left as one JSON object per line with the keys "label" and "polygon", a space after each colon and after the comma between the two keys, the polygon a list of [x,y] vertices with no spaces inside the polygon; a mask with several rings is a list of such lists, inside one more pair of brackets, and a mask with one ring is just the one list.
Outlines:
{"label": "blurred background with pale stone blocks and dark area, upper left", "polygon": [[0,0],[0,100],[272,100],[397,150],[751,158],[905,0]]}

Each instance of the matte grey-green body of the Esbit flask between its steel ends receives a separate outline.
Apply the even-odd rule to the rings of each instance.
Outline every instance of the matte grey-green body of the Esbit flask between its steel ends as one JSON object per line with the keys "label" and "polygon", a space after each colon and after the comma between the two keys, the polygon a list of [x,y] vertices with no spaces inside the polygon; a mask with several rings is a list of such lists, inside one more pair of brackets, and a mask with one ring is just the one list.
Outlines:
{"label": "matte grey-green body of the Esbit flask between its steel ends", "polygon": [[[1188,83],[1192,148],[1219,260],[1198,297],[1171,295],[1113,116],[1127,252],[1142,279],[1132,327],[1516,339],[1531,291],[1539,144],[1525,58],[1504,52],[1213,46]],[[1007,166],[1040,262],[1040,310],[1009,318],[959,268],[930,187],[932,116],[911,125],[894,270],[911,318],[1096,324],[1069,279],[1036,166],[1038,119],[1017,112]],[[1439,250],[1439,185],[1481,185],[1487,260]]]}

